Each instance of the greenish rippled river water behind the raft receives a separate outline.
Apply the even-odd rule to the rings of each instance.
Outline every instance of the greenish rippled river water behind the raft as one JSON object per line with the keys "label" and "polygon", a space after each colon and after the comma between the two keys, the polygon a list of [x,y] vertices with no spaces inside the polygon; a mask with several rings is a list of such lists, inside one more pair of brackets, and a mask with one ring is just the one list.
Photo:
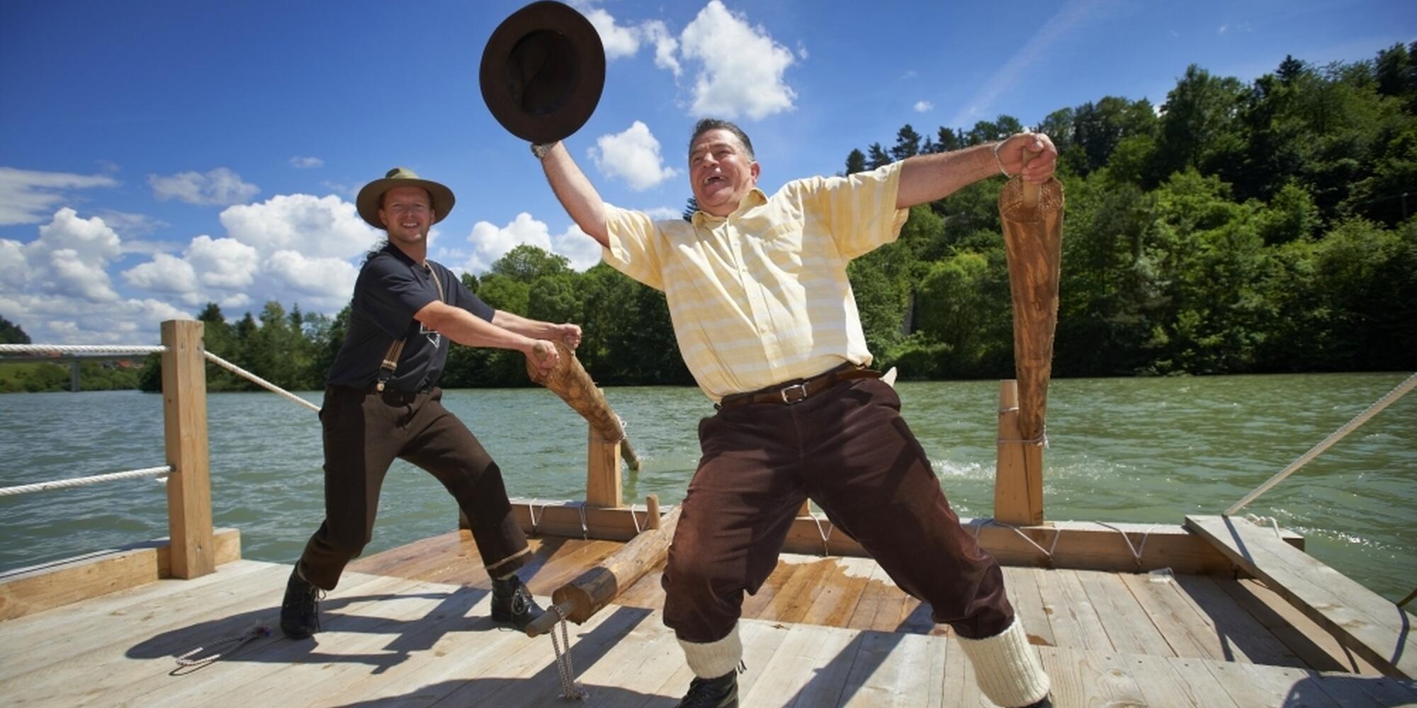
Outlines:
{"label": "greenish rippled river water behind the raft", "polygon": [[[1403,374],[1058,379],[1049,395],[1044,514],[1050,520],[1180,524],[1219,514],[1366,409]],[[993,504],[998,382],[901,382],[907,422],[955,510]],[[303,398],[319,402],[317,392]],[[677,503],[713,412],[693,388],[605,392],[643,460],[626,500]],[[585,489],[585,423],[544,389],[448,391],[445,405],[502,466],[513,497],[571,500]],[[323,518],[319,422],[273,394],[208,398],[213,515],[241,530],[242,555],[292,562]],[[0,396],[0,486],[160,466],[162,396],[135,391]],[[1417,395],[1407,396],[1260,497],[1246,513],[1304,534],[1308,551],[1383,596],[1417,586]],[[0,571],[167,534],[152,479],[0,497]],[[428,474],[395,463],[377,552],[456,527]]]}

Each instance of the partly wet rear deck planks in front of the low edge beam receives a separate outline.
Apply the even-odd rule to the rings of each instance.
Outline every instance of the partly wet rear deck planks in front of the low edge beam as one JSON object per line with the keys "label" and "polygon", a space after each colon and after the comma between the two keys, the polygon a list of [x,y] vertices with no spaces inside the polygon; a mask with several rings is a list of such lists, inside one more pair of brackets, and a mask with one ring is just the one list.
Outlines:
{"label": "partly wet rear deck planks in front of the low edge beam", "polygon": [[[530,539],[526,569],[536,595],[550,595],[616,541]],[[442,534],[361,558],[351,571],[490,589],[476,545]],[[1163,657],[1257,663],[1319,671],[1379,671],[1346,651],[1314,622],[1255,581],[1207,575],[1129,573],[1005,566],[1009,599],[1036,646]],[[655,610],[665,592],[657,571],[628,588],[616,605]],[[945,636],[928,606],[910,598],[869,558],[782,554],[743,617],[840,629]]]}

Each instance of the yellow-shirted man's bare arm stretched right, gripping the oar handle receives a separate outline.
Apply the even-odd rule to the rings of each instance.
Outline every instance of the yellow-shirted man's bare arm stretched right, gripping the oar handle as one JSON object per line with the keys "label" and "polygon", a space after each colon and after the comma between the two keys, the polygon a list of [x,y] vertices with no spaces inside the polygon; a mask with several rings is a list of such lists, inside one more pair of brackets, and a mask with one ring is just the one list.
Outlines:
{"label": "yellow-shirted man's bare arm stretched right, gripping the oar handle", "polygon": [[[995,160],[996,143],[983,143],[948,153],[921,154],[901,164],[900,191],[896,194],[896,208],[904,210],[927,201],[941,200],[979,180],[999,174],[1002,167],[1009,174],[1023,173],[1030,183],[1043,183],[1053,176],[1058,152],[1053,140],[1043,133],[1019,133],[999,144],[999,159]],[[1027,167],[1023,164],[1023,150],[1039,153]]]}

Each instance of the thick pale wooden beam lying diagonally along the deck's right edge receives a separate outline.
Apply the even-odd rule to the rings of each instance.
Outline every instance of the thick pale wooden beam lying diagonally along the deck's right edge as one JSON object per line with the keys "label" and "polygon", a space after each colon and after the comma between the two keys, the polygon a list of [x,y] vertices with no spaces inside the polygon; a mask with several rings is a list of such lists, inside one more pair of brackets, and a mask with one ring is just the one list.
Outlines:
{"label": "thick pale wooden beam lying diagonally along the deck's right edge", "polygon": [[1413,616],[1397,605],[1244,518],[1186,517],[1186,528],[1384,674],[1417,678]]}

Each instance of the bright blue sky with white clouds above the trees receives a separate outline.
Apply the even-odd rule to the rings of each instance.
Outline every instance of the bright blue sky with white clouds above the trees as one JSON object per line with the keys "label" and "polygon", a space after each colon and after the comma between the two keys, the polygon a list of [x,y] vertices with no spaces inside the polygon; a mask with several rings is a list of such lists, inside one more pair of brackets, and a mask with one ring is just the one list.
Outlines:
{"label": "bright blue sky with white clouds above the trees", "polygon": [[[517,244],[598,259],[478,89],[524,3],[0,3],[0,316],[37,343],[157,340],[207,302],[334,313],[380,234],[354,193],[394,166],[458,205],[431,256],[483,272]],[[697,118],[752,137],[761,184],[853,147],[1102,96],[1162,105],[1189,64],[1250,81],[1287,54],[1417,40],[1386,1],[601,0],[595,115],[567,146],[611,202],[676,215]]]}

